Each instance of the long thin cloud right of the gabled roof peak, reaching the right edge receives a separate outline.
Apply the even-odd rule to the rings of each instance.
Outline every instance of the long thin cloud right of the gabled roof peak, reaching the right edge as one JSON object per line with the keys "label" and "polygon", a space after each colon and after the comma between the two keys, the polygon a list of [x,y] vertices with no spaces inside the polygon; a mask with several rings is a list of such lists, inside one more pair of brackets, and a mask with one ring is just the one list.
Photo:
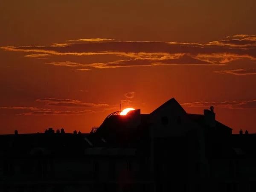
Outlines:
{"label": "long thin cloud right of the gabled roof peak, reaching the right edge", "polygon": [[183,103],[182,106],[186,107],[210,107],[216,106],[220,108],[229,109],[256,109],[256,100],[251,101],[226,101],[226,102],[194,102]]}

